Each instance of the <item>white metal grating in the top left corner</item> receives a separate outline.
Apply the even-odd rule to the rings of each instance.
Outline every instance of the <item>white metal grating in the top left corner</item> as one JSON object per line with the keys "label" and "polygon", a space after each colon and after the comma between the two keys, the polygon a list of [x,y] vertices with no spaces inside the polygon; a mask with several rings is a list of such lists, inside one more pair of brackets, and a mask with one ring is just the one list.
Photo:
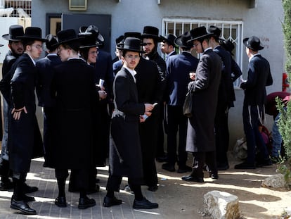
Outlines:
{"label": "white metal grating in the top left corner", "polygon": [[11,17],[30,18],[32,14],[32,0],[5,0],[5,8],[13,8]]}

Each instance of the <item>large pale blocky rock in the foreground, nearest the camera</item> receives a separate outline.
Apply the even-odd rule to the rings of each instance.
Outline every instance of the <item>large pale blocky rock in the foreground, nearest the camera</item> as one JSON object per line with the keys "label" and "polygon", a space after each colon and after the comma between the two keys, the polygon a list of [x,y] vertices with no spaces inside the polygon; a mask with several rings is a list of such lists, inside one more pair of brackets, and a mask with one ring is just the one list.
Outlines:
{"label": "large pale blocky rock in the foreground, nearest the camera", "polygon": [[211,191],[204,195],[204,212],[215,219],[240,218],[238,196],[221,191]]}

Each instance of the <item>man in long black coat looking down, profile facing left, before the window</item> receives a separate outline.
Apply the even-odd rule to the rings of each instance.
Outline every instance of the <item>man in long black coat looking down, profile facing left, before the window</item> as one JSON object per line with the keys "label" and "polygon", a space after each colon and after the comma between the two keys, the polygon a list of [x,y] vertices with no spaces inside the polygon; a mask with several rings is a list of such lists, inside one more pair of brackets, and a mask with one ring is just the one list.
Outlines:
{"label": "man in long black coat looking down, profile facing left, before the window", "polygon": [[221,77],[221,58],[209,45],[212,34],[204,26],[190,30],[191,38],[197,53],[202,53],[195,71],[194,81],[188,85],[193,92],[192,117],[188,120],[186,151],[193,152],[193,170],[182,180],[204,182],[203,168],[205,163],[210,176],[217,179],[214,118],[217,105],[217,92]]}

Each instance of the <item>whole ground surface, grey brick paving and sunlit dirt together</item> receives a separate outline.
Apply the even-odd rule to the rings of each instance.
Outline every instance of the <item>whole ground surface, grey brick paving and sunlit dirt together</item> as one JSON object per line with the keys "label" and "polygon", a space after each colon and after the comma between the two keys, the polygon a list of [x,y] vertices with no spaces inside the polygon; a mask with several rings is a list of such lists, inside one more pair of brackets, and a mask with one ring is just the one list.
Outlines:
{"label": "whole ground surface, grey brick paving and sunlit dirt together", "polygon": [[[191,162],[188,159],[188,165]],[[230,156],[231,158],[231,156]],[[291,191],[276,191],[261,187],[261,181],[276,174],[276,165],[270,168],[257,168],[255,170],[234,170],[233,165],[238,161],[231,160],[231,168],[219,172],[219,180],[212,180],[205,173],[205,183],[184,182],[181,176],[186,175],[176,172],[169,173],[162,170],[162,163],[157,163],[159,189],[157,192],[150,192],[147,187],[142,187],[143,194],[153,202],[159,204],[159,208],[153,210],[135,210],[132,208],[134,195],[120,190],[116,193],[123,204],[103,207],[103,198],[106,194],[105,185],[108,179],[108,168],[98,168],[101,191],[91,194],[89,197],[96,200],[96,206],[85,210],[77,208],[79,201],[78,193],[67,192],[67,208],[58,208],[54,204],[58,196],[54,170],[43,167],[43,159],[38,158],[32,161],[31,171],[27,175],[27,184],[39,187],[39,191],[30,194],[36,201],[30,206],[37,211],[37,215],[22,215],[10,208],[12,191],[0,191],[0,219],[89,219],[89,218],[194,218],[209,219],[203,213],[203,195],[212,190],[228,192],[238,196],[240,201],[240,212],[243,219],[277,219],[286,207],[290,207]],[[121,188],[127,184],[124,178]],[[68,183],[68,182],[67,182]]]}

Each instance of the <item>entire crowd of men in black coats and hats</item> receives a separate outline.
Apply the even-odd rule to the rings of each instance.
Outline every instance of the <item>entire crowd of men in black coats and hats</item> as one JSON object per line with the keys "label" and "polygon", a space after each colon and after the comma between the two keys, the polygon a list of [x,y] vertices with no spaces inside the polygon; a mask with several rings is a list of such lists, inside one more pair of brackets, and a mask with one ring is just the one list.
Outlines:
{"label": "entire crowd of men in black coats and hats", "polygon": [[[155,161],[165,162],[162,168],[170,172],[177,164],[178,173],[190,172],[182,177],[190,182],[204,182],[207,165],[209,176],[217,180],[218,170],[229,168],[228,110],[235,101],[233,82],[242,75],[232,57],[233,43],[220,35],[215,26],[197,27],[179,37],[161,36],[156,27],[145,26],[143,33],[117,37],[117,56],[112,60],[102,50],[105,42],[94,25],[45,38],[39,27],[24,31],[12,25],[2,36],[10,51],[0,82],[4,96],[0,187],[13,188],[11,208],[37,214],[27,204],[34,201],[27,193],[38,188],[25,180],[31,159],[40,156],[45,167],[55,169],[58,207],[67,206],[68,170],[69,191],[79,192],[78,208],[96,205],[87,194],[98,192],[96,167],[104,166],[106,158],[104,207],[122,204],[114,192],[119,192],[122,177],[128,177],[133,208],[157,208],[141,192],[141,185],[152,192],[158,189]],[[159,43],[165,59],[157,51]],[[248,37],[244,44],[250,57],[248,78],[241,85],[248,157],[235,165],[238,169],[256,168],[256,144],[261,165],[271,165],[257,127],[264,118],[265,87],[273,80],[268,61],[258,53],[263,49],[259,39]],[[46,57],[39,59],[43,48]],[[200,59],[193,56],[194,50]],[[258,63],[259,70],[252,68]],[[35,115],[35,91],[44,113],[43,138]],[[193,93],[190,118],[183,115],[187,92]],[[193,154],[191,167],[186,165],[188,152]]]}

